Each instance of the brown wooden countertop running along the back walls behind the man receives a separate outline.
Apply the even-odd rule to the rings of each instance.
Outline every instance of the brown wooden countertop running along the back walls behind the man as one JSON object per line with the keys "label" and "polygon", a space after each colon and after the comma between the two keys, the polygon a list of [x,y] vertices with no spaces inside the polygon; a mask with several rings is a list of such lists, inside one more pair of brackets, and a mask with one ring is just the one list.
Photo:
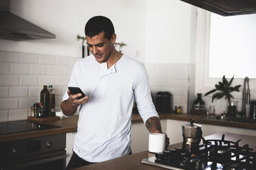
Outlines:
{"label": "brown wooden countertop running along the back walls behind the man", "polygon": [[[189,121],[190,119],[194,119],[195,123],[206,123],[211,125],[223,125],[229,127],[241,127],[256,130],[256,124],[254,123],[240,123],[240,122],[231,122],[231,121],[223,121],[217,119],[207,119],[205,115],[199,114],[159,114],[160,119],[171,119],[178,121]],[[45,121],[45,124],[50,125],[58,125],[61,126],[55,129],[49,130],[37,130],[30,132],[22,132],[22,133],[14,133],[14,134],[3,134],[0,135],[0,142],[5,141],[16,141],[23,138],[34,138],[39,136],[47,136],[54,134],[63,134],[69,132],[76,132],[77,130],[77,121],[78,115],[72,117],[63,117],[63,119],[58,121]],[[142,119],[140,118],[140,114],[132,114],[131,123],[142,123]]]}

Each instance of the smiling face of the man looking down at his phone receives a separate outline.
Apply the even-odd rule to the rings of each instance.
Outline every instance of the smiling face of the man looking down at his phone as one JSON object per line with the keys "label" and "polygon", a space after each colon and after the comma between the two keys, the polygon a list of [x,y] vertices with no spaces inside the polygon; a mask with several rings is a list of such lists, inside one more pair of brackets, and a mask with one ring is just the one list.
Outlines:
{"label": "smiling face of the man looking down at his phone", "polygon": [[97,62],[107,62],[114,50],[113,44],[116,40],[115,36],[116,34],[114,34],[110,40],[104,38],[104,32],[100,32],[100,34],[93,36],[92,38],[86,36],[89,51],[94,55]]}

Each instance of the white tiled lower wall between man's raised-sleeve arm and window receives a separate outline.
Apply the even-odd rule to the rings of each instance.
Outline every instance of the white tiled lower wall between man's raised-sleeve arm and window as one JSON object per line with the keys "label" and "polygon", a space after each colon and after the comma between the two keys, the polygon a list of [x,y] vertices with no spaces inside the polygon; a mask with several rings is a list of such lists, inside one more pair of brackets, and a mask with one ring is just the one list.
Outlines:
{"label": "white tiled lower wall between man's raised-sleeve arm and window", "polygon": [[182,112],[186,112],[189,64],[145,64],[145,67],[153,99],[158,91],[168,91],[173,98],[172,110],[174,106],[182,106]]}

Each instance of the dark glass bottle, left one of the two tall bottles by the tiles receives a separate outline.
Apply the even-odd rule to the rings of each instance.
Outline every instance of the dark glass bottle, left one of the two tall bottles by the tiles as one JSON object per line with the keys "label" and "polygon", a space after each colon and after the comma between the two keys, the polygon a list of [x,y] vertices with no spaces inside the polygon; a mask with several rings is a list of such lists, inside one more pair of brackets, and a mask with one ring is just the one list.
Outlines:
{"label": "dark glass bottle, left one of the two tall bottles by the tiles", "polygon": [[43,104],[43,117],[50,117],[50,92],[43,86],[40,93],[40,102]]}

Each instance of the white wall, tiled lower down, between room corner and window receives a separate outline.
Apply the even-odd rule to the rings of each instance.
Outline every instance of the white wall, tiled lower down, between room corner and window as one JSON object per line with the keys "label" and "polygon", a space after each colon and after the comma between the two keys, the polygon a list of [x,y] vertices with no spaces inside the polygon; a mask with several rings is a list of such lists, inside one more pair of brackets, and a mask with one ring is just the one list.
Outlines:
{"label": "white wall, tiled lower down, between room corner and window", "polygon": [[151,90],[169,91],[172,108],[179,105],[187,112],[189,89],[195,84],[196,8],[182,1],[150,0],[146,17],[145,66]]}

